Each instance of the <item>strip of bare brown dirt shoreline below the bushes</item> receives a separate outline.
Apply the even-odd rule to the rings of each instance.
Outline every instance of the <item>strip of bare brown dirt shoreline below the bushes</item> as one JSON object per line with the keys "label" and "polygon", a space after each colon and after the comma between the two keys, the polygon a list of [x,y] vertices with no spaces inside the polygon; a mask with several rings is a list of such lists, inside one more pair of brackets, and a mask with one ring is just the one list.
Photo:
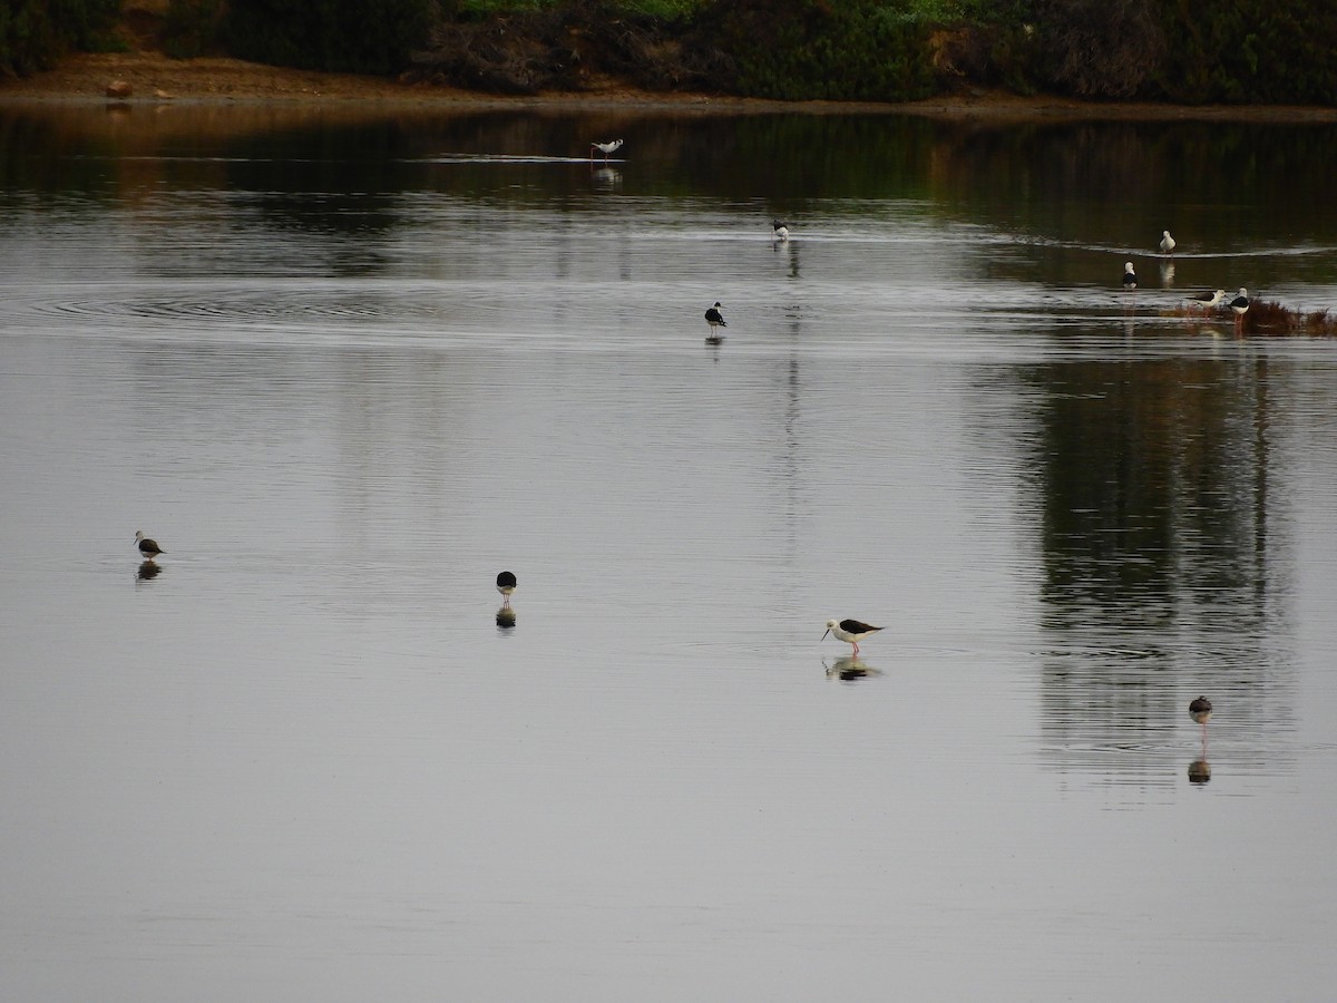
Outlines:
{"label": "strip of bare brown dirt shoreline below the bushes", "polygon": [[[108,99],[112,80],[130,84],[131,95]],[[246,63],[239,59],[168,59],[159,52],[79,53],[55,70],[23,79],[0,79],[0,103],[106,103],[128,104],[301,104],[385,106],[445,110],[471,108],[616,108],[619,111],[675,112],[880,112],[928,115],[991,122],[1035,119],[1215,120],[1215,122],[1337,122],[1333,107],[1293,106],[1173,106],[1106,104],[1063,98],[1023,98],[969,91],[904,104],[841,102],[773,102],[710,94],[656,94],[606,80],[579,94],[505,96],[436,84],[416,84],[348,74],[320,74]]]}

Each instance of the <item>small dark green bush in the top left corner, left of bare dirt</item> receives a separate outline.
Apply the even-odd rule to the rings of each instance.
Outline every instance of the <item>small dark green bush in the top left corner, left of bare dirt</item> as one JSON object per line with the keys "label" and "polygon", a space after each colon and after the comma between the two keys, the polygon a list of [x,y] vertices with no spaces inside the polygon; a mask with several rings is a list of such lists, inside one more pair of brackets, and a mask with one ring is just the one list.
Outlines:
{"label": "small dark green bush in the top left corner, left of bare dirt", "polygon": [[0,75],[47,70],[70,49],[104,51],[120,0],[4,0]]}

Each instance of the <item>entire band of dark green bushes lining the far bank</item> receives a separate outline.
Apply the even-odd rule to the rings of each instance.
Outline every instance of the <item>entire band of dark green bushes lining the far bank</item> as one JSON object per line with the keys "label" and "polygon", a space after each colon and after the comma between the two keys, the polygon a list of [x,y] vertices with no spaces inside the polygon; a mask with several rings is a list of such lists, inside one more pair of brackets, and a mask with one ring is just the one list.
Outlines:
{"label": "entire band of dark green bushes lining the far bank", "polygon": [[[0,74],[106,48],[119,0],[0,0]],[[1337,104],[1332,0],[168,0],[168,55],[504,92]]]}

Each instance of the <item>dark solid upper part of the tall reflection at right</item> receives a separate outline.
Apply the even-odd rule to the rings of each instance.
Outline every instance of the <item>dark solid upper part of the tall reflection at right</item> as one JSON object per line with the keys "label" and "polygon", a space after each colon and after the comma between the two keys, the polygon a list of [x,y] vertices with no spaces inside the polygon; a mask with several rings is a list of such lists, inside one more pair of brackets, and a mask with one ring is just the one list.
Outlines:
{"label": "dark solid upper part of the tall reflection at right", "polygon": [[1055,623],[1262,615],[1266,364],[1092,361],[1034,373],[1043,596]]}

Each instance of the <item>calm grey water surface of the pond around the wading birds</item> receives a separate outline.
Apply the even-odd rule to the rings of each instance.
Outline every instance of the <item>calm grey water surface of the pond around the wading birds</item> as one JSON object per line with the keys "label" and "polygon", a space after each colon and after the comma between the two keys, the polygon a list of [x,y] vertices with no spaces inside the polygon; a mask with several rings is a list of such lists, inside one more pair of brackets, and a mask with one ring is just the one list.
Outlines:
{"label": "calm grey water surface of the pond around the wading birds", "polygon": [[4,999],[1330,998],[1329,127],[0,136]]}

